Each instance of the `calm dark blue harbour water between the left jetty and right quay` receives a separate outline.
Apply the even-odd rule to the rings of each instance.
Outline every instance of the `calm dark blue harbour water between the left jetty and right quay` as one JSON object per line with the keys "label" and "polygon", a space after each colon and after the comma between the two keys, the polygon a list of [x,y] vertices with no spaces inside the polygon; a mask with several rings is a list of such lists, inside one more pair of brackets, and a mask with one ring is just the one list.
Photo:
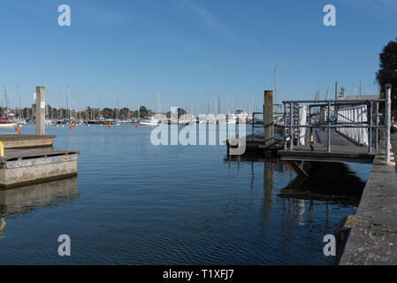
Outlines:
{"label": "calm dark blue harbour water between the left jetty and right quay", "polygon": [[[0,264],[332,264],[324,234],[354,203],[283,196],[295,177],[285,164],[155,147],[150,131],[48,127],[56,149],[80,150],[79,177],[0,192]],[[370,166],[347,169],[363,187]],[[57,255],[64,233],[70,257]]]}

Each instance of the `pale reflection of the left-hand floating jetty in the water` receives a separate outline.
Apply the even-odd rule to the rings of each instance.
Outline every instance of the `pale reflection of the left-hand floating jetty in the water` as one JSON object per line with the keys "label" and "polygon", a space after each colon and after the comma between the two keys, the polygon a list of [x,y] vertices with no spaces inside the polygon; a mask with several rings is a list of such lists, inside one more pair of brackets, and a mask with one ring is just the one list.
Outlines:
{"label": "pale reflection of the left-hand floating jetty in the water", "polygon": [[0,190],[0,239],[4,238],[7,217],[68,203],[78,196],[77,178]]}

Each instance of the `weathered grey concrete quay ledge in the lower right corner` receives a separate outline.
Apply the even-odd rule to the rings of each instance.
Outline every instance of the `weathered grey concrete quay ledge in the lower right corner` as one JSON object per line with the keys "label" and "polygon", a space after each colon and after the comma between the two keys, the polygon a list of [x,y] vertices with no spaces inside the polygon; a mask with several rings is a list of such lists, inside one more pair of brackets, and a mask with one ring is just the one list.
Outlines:
{"label": "weathered grey concrete quay ledge in the lower right corner", "polygon": [[397,265],[395,166],[372,165],[357,213],[336,234],[339,247],[346,242],[338,249],[339,264]]}

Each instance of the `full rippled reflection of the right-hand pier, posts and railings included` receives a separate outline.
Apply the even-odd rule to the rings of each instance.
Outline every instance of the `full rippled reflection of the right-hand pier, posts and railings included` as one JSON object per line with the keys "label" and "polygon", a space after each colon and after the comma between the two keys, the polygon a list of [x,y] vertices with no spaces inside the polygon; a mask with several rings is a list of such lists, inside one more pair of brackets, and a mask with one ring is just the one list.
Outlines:
{"label": "full rippled reflection of the right-hand pier, posts and railings included", "polygon": [[[307,247],[317,246],[321,243],[319,235],[334,233],[341,219],[335,216],[335,211],[340,208],[354,209],[365,187],[365,182],[347,164],[300,164],[308,170],[308,177],[299,175],[294,166],[279,160],[253,157],[225,157],[224,160],[229,163],[229,168],[237,163],[238,170],[249,165],[251,190],[254,181],[257,182],[254,176],[257,178],[261,173],[258,167],[263,164],[261,235],[264,239],[271,239],[270,233],[277,233],[274,218],[276,213],[279,214],[280,223],[276,226],[279,226],[284,247],[281,252],[286,257],[296,249],[296,241],[303,241]],[[286,178],[282,178],[281,174]],[[283,183],[283,180],[286,182]]]}

